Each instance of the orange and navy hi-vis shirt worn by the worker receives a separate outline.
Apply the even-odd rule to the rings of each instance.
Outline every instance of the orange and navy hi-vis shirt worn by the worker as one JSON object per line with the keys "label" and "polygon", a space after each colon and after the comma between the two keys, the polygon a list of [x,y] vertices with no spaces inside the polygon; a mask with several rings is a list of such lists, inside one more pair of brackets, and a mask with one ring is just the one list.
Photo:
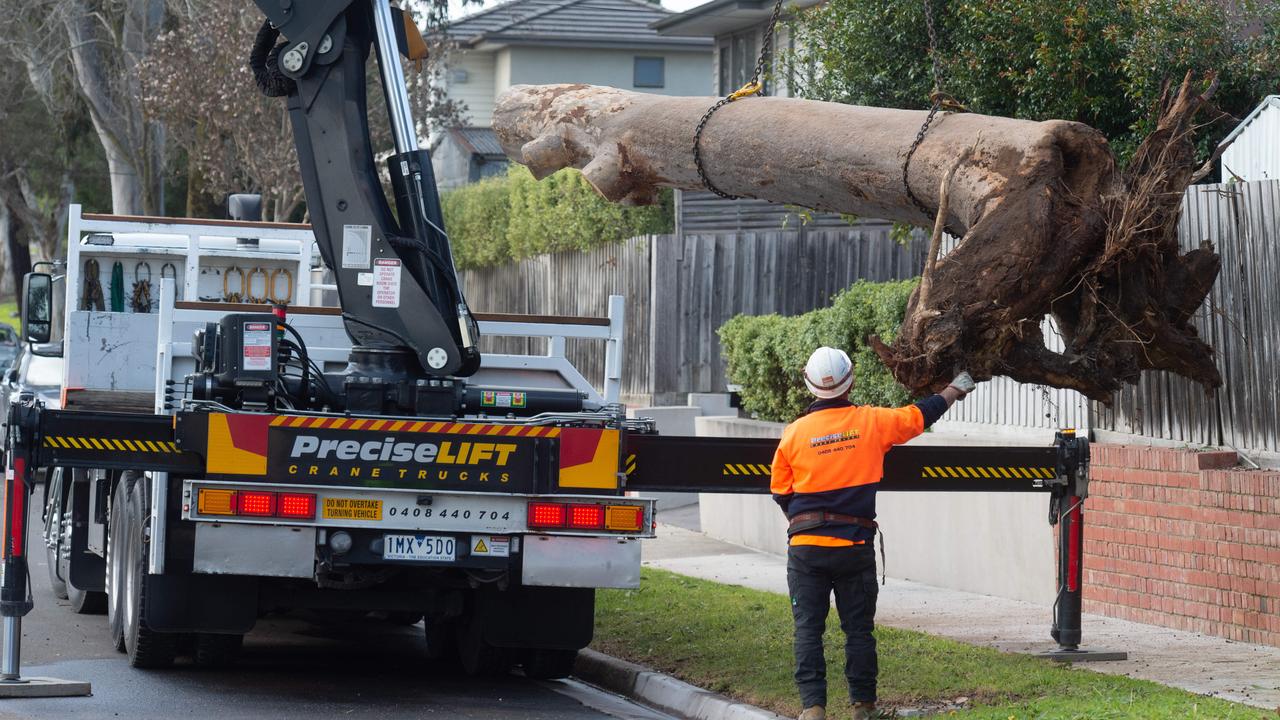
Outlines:
{"label": "orange and navy hi-vis shirt worn by the worker", "polygon": [[[846,401],[814,404],[813,411],[782,430],[773,454],[771,491],[787,518],[826,511],[876,518],[876,491],[884,455],[924,432],[916,405],[870,407]],[[859,525],[831,524],[791,537],[791,544],[845,547],[873,539]]]}

